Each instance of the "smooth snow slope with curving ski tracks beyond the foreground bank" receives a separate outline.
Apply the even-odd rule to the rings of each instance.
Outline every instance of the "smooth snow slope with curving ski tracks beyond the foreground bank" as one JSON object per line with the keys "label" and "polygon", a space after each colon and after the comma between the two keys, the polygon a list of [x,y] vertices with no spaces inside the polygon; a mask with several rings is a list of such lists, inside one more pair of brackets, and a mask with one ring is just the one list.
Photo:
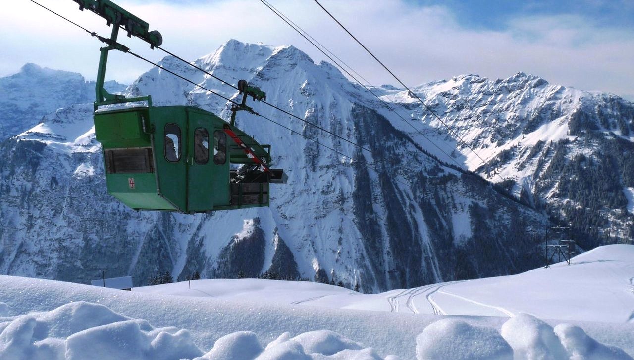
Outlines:
{"label": "smooth snow slope with curving ski tracks beyond the foreground bank", "polygon": [[[556,260],[557,258],[555,258]],[[634,246],[607,245],[525,273],[359,294],[311,282],[212,279],[134,288],[145,294],[337,309],[627,323],[634,316]],[[634,340],[634,338],[632,339]]]}

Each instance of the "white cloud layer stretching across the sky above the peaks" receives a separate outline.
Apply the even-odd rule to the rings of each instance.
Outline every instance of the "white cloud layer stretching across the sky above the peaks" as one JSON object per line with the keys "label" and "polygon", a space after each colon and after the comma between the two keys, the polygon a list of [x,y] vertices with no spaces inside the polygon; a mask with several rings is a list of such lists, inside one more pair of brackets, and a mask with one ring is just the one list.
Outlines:
{"label": "white cloud layer stretching across the sky above the peaks", "polygon": [[[108,35],[98,16],[77,11],[67,0],[40,0],[73,21]],[[214,51],[228,39],[293,44],[315,61],[316,49],[258,1],[226,0],[176,6],[120,0],[122,7],[159,30],[164,46],[184,58]],[[285,15],[325,44],[375,85],[396,84],[316,4],[271,1]],[[508,19],[506,30],[461,27],[443,7],[421,8],[403,1],[328,1],[324,5],[357,35],[378,58],[408,85],[462,73],[508,77],[517,71],[534,73],[552,84],[613,92],[634,100],[634,34],[631,30],[592,25],[579,16],[526,16]],[[75,70],[94,78],[99,42],[30,3],[14,1],[0,14],[0,75],[17,71],[28,61],[51,68]],[[124,39],[153,60],[140,40]],[[108,75],[130,82],[148,65],[130,56],[113,56]],[[630,95],[628,95],[630,94]]]}

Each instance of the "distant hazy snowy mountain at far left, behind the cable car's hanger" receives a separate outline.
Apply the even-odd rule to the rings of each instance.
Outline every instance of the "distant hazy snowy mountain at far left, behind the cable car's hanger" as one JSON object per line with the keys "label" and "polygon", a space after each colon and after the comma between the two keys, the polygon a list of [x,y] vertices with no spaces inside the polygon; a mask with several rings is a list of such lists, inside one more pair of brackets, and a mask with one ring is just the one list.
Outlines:
{"label": "distant hazy snowy mountain at far left, behind the cable car's hanger", "polygon": [[[122,92],[126,85],[108,81],[110,92]],[[79,73],[22,66],[18,73],[0,78],[0,141],[21,133],[41,121],[43,116],[72,104],[94,101],[94,81]]]}

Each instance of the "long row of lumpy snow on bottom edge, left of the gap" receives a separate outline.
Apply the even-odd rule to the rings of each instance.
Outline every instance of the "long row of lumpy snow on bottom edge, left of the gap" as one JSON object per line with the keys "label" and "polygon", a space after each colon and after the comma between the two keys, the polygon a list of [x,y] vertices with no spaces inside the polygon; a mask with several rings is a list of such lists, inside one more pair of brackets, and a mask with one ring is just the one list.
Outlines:
{"label": "long row of lumpy snow on bottom edge, left of the gap", "polygon": [[[0,314],[8,306],[0,303]],[[51,311],[0,320],[2,360],[81,359],[382,359],[372,348],[330,330],[290,337],[283,333],[266,349],[254,332],[225,335],[203,355],[188,330],[153,328],[145,320],[127,318],[107,306],[79,301]],[[394,358],[394,357],[391,357]]]}

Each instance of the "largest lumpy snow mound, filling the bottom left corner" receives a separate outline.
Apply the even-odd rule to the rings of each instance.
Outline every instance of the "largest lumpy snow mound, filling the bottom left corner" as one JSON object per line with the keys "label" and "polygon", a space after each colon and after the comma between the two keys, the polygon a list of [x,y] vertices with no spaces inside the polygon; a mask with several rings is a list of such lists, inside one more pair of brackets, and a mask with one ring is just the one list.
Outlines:
{"label": "largest lumpy snow mound, filling the bottom left corner", "polygon": [[90,302],[0,323],[0,359],[181,359],[200,356],[187,330],[153,328]]}

